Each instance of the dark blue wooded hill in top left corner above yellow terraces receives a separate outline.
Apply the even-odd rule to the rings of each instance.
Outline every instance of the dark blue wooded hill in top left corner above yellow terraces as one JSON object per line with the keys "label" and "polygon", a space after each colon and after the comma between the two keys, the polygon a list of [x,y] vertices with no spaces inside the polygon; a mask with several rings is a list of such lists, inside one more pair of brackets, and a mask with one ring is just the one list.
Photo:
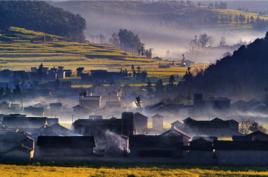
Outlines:
{"label": "dark blue wooded hill in top left corner above yellow terraces", "polygon": [[43,1],[1,1],[0,29],[11,26],[83,40],[86,22],[79,15]]}

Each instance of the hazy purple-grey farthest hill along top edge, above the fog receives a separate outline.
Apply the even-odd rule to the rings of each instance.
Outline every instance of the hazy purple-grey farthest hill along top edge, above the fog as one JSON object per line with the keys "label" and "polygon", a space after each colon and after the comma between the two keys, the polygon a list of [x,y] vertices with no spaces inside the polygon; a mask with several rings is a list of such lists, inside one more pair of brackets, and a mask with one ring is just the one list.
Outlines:
{"label": "hazy purple-grey farthest hill along top edge, above the fog", "polygon": [[[256,13],[239,10],[209,8],[194,1],[64,1],[55,5],[79,13],[87,18],[92,14],[103,16],[150,19],[162,25],[209,26],[220,24],[255,23]],[[234,13],[235,12],[235,13]],[[108,16],[107,16],[108,17]],[[252,18],[252,19],[247,19]],[[259,16],[268,21],[268,17]],[[248,21],[247,21],[248,20]]]}

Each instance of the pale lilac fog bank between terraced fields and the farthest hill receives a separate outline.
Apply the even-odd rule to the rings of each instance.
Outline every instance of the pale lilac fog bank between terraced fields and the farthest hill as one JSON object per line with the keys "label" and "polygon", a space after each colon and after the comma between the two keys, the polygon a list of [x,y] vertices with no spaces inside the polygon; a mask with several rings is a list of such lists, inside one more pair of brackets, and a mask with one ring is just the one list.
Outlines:
{"label": "pale lilac fog bank between terraced fields and the farthest hill", "polygon": [[[170,16],[173,13],[169,14],[165,11],[166,9],[160,9],[159,12],[150,9],[147,12],[146,9],[140,9],[140,7],[130,8],[127,5],[125,7],[125,4],[118,7],[118,4],[115,5],[111,2],[99,4],[95,1],[65,2],[56,3],[56,5],[78,13],[86,19],[85,35],[91,42],[100,42],[100,35],[103,35],[107,42],[112,33],[118,32],[121,28],[129,29],[140,36],[146,48],[153,48],[154,56],[167,59],[181,59],[181,55],[186,54],[187,59],[195,62],[215,62],[226,52],[233,52],[237,49],[237,46],[233,47],[233,45],[241,42],[249,43],[265,34],[265,31],[227,25],[185,27],[178,24],[176,18],[163,19],[165,15]],[[109,7],[110,5],[111,7]],[[194,39],[195,35],[203,33],[212,37],[212,46],[202,51],[189,52],[190,41]],[[222,37],[225,37],[229,47],[217,47]]]}

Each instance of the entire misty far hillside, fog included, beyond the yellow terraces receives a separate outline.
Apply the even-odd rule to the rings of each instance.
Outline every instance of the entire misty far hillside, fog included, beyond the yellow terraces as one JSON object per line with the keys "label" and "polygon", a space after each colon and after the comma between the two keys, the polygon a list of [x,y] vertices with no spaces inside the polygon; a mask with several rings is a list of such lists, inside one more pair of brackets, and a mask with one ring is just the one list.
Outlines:
{"label": "entire misty far hillside, fog included, beyond the yellow terraces", "polygon": [[[129,29],[140,36],[147,48],[153,48],[155,56],[173,59],[189,53],[189,43],[196,35],[211,36],[212,46],[225,37],[232,46],[260,37],[267,25],[267,17],[258,19],[256,13],[212,9],[181,1],[62,1],[52,5],[86,19],[85,36],[90,41],[108,42],[113,32]],[[186,57],[196,62],[214,62],[232,51],[214,47],[204,55],[193,53]]]}

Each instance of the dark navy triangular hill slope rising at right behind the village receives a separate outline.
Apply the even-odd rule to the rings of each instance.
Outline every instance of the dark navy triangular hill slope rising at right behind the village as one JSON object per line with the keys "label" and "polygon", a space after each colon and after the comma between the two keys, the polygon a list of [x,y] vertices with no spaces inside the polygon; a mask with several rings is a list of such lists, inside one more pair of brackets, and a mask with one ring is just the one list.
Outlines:
{"label": "dark navy triangular hill slope rising at right behind the village", "polygon": [[268,33],[248,46],[210,65],[204,72],[185,76],[179,85],[184,91],[206,95],[255,98],[268,88]]}

